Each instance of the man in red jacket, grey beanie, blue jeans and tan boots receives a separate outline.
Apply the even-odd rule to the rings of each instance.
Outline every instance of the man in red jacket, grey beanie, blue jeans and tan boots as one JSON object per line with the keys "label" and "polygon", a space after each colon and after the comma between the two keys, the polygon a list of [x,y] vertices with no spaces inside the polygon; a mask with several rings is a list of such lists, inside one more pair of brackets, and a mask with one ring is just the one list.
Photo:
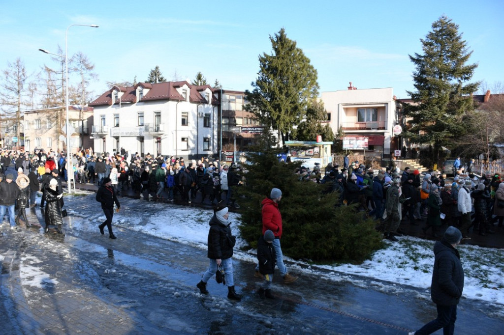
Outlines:
{"label": "man in red jacket, grey beanie, blue jeans and tan boots", "polygon": [[[280,270],[280,275],[282,275],[284,279],[284,284],[290,284],[296,281],[298,277],[289,275],[283,263],[282,249],[280,247],[280,238],[282,237],[282,215],[278,209],[278,203],[281,199],[282,191],[279,189],[272,189],[270,197],[263,200],[263,235],[268,229],[273,231],[275,235],[273,246],[275,247],[277,257],[277,267],[278,270]],[[264,279],[264,276],[259,272],[259,265],[256,267],[254,276]]]}

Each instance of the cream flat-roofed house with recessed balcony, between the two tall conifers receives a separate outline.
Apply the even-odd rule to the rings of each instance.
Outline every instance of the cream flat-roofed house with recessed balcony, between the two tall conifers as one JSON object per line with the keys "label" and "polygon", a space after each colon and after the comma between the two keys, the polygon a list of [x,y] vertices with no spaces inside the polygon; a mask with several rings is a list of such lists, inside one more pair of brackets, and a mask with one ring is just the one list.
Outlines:
{"label": "cream flat-roofed house with recessed balcony, between the two tall conifers", "polygon": [[393,128],[398,120],[398,103],[392,88],[323,92],[321,100],[334,132],[342,129],[345,137],[367,137],[368,150],[385,156],[395,148]]}

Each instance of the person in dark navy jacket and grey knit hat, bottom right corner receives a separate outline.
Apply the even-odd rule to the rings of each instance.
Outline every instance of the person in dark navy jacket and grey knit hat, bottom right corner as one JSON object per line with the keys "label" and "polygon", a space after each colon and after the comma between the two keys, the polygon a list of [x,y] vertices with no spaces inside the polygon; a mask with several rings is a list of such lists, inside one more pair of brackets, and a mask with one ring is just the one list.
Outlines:
{"label": "person in dark navy jacket and grey knit hat, bottom right corner", "polygon": [[425,335],[443,328],[445,335],[453,335],[457,319],[457,305],[464,289],[464,269],[457,245],[462,233],[448,227],[440,241],[434,244],[434,268],[430,296],[436,304],[437,317],[409,335]]}

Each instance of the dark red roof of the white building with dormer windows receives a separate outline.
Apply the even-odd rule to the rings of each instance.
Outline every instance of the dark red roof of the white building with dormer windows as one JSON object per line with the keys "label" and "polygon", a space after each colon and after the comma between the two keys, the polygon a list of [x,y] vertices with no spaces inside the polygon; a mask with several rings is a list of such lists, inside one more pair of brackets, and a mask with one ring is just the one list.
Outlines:
{"label": "dark red roof of the white building with dormer windows", "polygon": [[[136,103],[137,96],[136,90],[138,87],[148,89],[149,92],[145,93],[141,101],[154,101],[154,100],[177,100],[183,101],[183,97],[179,94],[176,88],[186,85],[189,88],[189,101],[193,103],[208,103],[205,97],[201,95],[201,91],[210,89],[211,95],[215,91],[210,85],[195,86],[191,85],[187,81],[166,81],[158,83],[147,83],[139,82],[134,87],[120,88],[121,92],[124,94],[121,96],[121,102]],[[89,104],[89,106],[104,106],[112,105],[112,92],[116,87],[112,87],[109,91],[103,93],[99,98]],[[119,101],[115,102],[116,104]],[[212,104],[216,105],[217,102],[214,100]]]}

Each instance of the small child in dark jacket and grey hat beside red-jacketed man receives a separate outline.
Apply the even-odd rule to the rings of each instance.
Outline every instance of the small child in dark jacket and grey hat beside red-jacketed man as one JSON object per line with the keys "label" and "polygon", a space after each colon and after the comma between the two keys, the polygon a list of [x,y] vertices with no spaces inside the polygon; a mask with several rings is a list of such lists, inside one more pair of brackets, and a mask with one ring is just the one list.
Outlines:
{"label": "small child in dark jacket and grey hat beside red-jacketed man", "polygon": [[266,230],[264,236],[261,236],[257,246],[257,259],[259,261],[259,272],[264,275],[264,283],[261,285],[258,293],[261,299],[275,299],[271,294],[271,281],[276,265],[275,247],[273,246],[275,235],[273,231]]}

